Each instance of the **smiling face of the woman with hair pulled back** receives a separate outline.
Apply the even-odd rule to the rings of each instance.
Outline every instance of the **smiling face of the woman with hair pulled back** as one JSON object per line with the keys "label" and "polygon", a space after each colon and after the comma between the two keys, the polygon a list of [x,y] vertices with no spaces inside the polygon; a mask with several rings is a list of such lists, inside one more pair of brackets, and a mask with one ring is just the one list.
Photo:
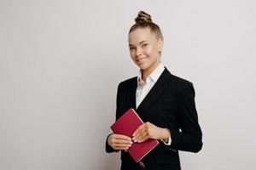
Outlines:
{"label": "smiling face of the woman with hair pulled back", "polygon": [[131,59],[143,71],[153,71],[160,63],[163,39],[157,38],[149,28],[131,31],[128,37]]}

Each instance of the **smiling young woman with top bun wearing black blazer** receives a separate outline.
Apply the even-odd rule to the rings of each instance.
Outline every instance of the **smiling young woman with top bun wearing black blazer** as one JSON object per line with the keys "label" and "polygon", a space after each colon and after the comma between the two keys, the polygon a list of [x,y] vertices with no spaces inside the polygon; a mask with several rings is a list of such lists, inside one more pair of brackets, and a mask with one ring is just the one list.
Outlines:
{"label": "smiling young woman with top bun wearing black blazer", "polygon": [[160,61],[163,36],[149,14],[141,11],[129,31],[131,59],[140,68],[137,77],[119,83],[116,119],[130,108],[145,122],[133,138],[112,133],[106,151],[121,150],[121,170],[141,169],[126,150],[147,139],[160,141],[143,157],[147,170],[181,169],[178,150],[201,150],[201,127],[195,109],[193,84],[172,75]]}

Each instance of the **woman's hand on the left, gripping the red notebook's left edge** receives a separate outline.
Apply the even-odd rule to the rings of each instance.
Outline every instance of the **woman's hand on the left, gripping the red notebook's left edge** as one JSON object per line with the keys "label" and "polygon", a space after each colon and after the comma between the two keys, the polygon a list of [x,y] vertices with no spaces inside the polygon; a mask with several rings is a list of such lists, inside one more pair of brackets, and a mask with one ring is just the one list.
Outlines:
{"label": "woman's hand on the left, gripping the red notebook's left edge", "polygon": [[108,144],[113,150],[128,150],[131,147],[131,138],[122,134],[113,133],[108,137]]}

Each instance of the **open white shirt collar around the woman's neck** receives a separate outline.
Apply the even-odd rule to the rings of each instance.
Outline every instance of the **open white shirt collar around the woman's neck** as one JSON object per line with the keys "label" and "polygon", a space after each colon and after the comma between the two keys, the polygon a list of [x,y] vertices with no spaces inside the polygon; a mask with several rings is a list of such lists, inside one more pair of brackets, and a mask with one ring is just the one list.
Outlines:
{"label": "open white shirt collar around the woman's neck", "polygon": [[139,74],[137,76],[137,85],[144,85],[145,83],[148,83],[150,81],[153,81],[154,83],[159,79],[162,72],[165,70],[165,67],[162,63],[160,63],[154,71],[151,72],[151,74],[147,77],[146,82],[143,82],[142,78],[142,70],[139,71]]}

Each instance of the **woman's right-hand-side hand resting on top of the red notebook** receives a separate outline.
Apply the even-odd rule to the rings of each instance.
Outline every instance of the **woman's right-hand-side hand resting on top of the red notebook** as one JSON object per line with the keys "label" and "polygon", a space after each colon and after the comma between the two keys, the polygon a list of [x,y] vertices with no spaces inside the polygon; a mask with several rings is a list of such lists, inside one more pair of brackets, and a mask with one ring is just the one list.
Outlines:
{"label": "woman's right-hand-side hand resting on top of the red notebook", "polygon": [[169,139],[169,132],[167,129],[162,127],[157,127],[150,122],[143,123],[143,125],[137,127],[137,130],[133,133],[132,140],[134,142],[144,142],[147,139]]}

